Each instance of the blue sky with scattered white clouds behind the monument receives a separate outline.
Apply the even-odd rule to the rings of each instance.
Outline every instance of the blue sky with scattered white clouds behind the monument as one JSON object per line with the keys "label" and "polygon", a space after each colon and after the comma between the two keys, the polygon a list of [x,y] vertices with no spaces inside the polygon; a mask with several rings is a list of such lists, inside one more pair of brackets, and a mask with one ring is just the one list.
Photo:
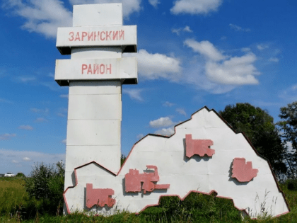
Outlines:
{"label": "blue sky with scattered white clouds behind the monument", "polygon": [[279,120],[297,101],[297,1],[3,0],[0,173],[65,159],[68,87],[54,81],[57,27],[73,4],[122,2],[137,25],[139,84],[122,86],[122,154],[206,105],[251,103]]}

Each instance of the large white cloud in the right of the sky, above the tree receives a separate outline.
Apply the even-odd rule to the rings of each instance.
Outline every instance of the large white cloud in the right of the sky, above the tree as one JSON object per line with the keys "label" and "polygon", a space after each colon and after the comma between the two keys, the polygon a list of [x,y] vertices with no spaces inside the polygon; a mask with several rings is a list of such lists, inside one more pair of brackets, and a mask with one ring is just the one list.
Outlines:
{"label": "large white cloud in the right of the sky, above the tree", "polygon": [[[214,84],[259,84],[255,75],[259,75],[260,72],[254,66],[257,57],[252,52],[248,52],[241,57],[226,57],[209,41],[197,42],[196,40],[188,39],[185,40],[184,44],[206,58],[205,64],[201,64],[200,67],[195,67],[195,69],[198,72],[200,70],[201,73],[205,72],[206,78],[213,83],[205,80],[203,75],[191,76],[193,80],[187,79],[187,82],[191,83],[191,81],[194,81],[193,83],[204,89],[215,89]],[[220,93],[230,91],[233,88],[233,86],[215,87],[215,91]]]}

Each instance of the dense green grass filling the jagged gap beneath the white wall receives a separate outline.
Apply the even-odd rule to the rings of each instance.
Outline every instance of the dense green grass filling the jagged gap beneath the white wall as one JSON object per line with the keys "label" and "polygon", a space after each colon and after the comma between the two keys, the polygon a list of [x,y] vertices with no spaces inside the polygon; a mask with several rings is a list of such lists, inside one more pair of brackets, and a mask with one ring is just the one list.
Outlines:
{"label": "dense green grass filling the jagged gap beneath the white wall", "polygon": [[190,193],[181,201],[177,197],[161,198],[158,207],[149,207],[141,213],[151,222],[241,222],[232,200],[215,195]]}

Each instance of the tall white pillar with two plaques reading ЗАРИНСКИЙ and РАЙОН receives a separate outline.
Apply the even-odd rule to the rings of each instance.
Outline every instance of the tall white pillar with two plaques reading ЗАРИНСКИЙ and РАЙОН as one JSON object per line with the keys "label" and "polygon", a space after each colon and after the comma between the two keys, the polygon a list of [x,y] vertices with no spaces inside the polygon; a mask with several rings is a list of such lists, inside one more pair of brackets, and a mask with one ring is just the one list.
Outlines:
{"label": "tall white pillar with two plaques reading \u0417\u0410\u0420\u0418\u041d\u0421\u041a\u0418\u0419 and \u0420\u0410\u0419\u041e\u041d", "polygon": [[[64,188],[74,168],[95,161],[120,170],[122,84],[136,84],[136,26],[122,25],[122,4],[74,6],[73,28],[59,28],[55,80],[69,86]],[[131,31],[132,30],[132,31]],[[132,65],[132,66],[131,66]]]}

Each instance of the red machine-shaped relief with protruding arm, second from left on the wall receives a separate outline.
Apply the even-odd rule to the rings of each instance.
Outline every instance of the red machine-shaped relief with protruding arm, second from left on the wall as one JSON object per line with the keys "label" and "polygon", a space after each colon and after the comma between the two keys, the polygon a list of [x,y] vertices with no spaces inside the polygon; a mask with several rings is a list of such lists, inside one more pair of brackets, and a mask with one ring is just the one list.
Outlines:
{"label": "red machine-shaped relief with protruding arm, second from left on the wall", "polygon": [[158,168],[156,166],[146,166],[147,168],[153,168],[155,171],[153,173],[141,173],[136,169],[129,169],[129,173],[126,173],[124,176],[124,186],[126,192],[140,192],[141,191],[141,182],[142,190],[144,193],[146,191],[151,192],[155,189],[168,189],[170,184],[155,184],[153,182],[159,181]]}

